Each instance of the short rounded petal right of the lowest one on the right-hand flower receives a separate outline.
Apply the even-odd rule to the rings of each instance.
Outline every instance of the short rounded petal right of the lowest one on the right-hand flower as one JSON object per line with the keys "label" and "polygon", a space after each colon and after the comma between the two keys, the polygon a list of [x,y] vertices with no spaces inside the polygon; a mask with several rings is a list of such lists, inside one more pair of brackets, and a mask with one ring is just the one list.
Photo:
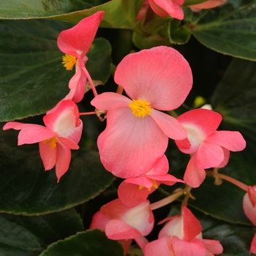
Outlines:
{"label": "short rounded petal right of the lowest one on the right-hand flower", "polygon": [[200,169],[216,167],[224,158],[221,146],[203,142],[195,153],[195,166]]}

